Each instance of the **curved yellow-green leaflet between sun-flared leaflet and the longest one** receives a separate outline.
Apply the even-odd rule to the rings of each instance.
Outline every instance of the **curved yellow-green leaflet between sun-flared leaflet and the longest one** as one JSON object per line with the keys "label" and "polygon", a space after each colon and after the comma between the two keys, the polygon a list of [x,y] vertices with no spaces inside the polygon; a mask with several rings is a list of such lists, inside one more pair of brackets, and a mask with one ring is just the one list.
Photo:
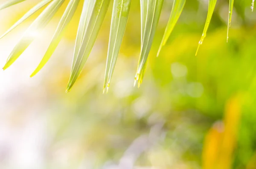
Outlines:
{"label": "curved yellow-green leaflet between sun-flared leaflet and the longest one", "polygon": [[44,54],[43,59],[41,60],[41,62],[39,63],[39,65],[35,69],[35,71],[30,75],[30,77],[37,74],[47,63],[49,58],[52,56],[53,52],[55,51],[59,42],[61,41],[61,37],[63,35],[65,28],[67,27],[68,23],[70,23],[73,15],[77,9],[79,1],[80,0],[70,0],[70,2],[68,3],[66,10],[64,11],[64,14],[61,17],[61,20],[58,23],[58,27],[55,30],[55,33],[52,37],[52,41],[47,49],[47,52]]}

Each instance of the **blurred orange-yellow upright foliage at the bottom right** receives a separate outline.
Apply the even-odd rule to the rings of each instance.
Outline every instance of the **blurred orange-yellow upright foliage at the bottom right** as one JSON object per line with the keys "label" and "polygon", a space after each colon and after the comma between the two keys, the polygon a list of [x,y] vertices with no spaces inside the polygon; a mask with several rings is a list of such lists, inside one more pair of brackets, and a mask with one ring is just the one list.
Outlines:
{"label": "blurred orange-yellow upright foliage at the bottom right", "polygon": [[241,95],[226,103],[223,122],[216,122],[207,133],[203,148],[203,169],[231,169],[241,117]]}

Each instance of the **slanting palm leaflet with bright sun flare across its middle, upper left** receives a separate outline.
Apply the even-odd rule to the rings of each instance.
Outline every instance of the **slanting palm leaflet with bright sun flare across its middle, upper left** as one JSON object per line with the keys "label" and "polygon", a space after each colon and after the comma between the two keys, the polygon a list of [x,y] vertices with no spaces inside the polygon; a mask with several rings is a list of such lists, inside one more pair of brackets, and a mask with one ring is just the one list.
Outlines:
{"label": "slanting palm leaflet with bright sun flare across its middle, upper left", "polygon": [[64,0],[53,0],[46,9],[36,18],[36,20],[29,26],[24,35],[21,37],[17,45],[9,55],[7,62],[3,69],[7,69],[15,60],[22,54],[25,49],[32,43],[38,32],[43,29],[47,23],[52,19],[54,14],[61,7]]}

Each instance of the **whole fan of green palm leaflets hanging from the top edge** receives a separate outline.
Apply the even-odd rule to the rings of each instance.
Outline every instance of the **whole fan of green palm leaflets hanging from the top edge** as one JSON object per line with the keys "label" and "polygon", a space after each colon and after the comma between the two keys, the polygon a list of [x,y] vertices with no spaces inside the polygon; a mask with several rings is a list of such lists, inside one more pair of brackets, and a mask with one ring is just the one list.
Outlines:
{"label": "whole fan of green palm leaflets hanging from the top edge", "polygon": [[[7,0],[6,3],[0,6],[0,9],[7,8],[9,6],[15,5],[25,0]],[[30,9],[20,20],[17,21],[6,33],[1,37],[5,36],[11,32],[16,26],[34,14],[36,11],[44,6],[47,6],[44,11],[35,19],[35,21],[29,26],[26,32],[23,34],[21,39],[18,41],[15,48],[9,55],[6,65],[3,69],[8,68],[19,56],[24,52],[24,50],[29,46],[30,43],[35,39],[35,32],[43,29],[47,23],[52,19],[54,14],[58,11],[65,0],[41,0],[36,6]],[[52,41],[45,53],[41,63],[31,74],[34,76],[41,68],[47,63],[52,53],[58,46],[61,40],[64,29],[67,24],[72,19],[80,0],[68,0],[69,3],[65,9],[61,20],[58,23],[58,27],[55,30],[55,34],[52,37]],[[76,45],[73,55],[73,63],[70,73],[70,80],[67,85],[67,92],[70,91],[73,84],[76,82],[79,74],[81,73],[83,66],[89,57],[90,51],[93,48],[96,37],[99,33],[99,29],[104,20],[105,14],[108,10],[108,6],[111,0],[83,0],[83,9],[81,12],[81,18],[79,21],[79,28],[76,36]],[[142,83],[143,75],[145,72],[145,65],[147,62],[148,54],[151,49],[154,34],[156,32],[157,23],[160,17],[164,0],[140,0],[141,6],[141,52],[139,63],[137,67],[137,73],[135,75],[135,83],[138,83],[138,87]],[[206,37],[207,29],[215,8],[217,0],[209,0],[207,21],[204,27],[204,31],[199,41],[199,46],[202,44],[204,37]],[[166,44],[178,18],[183,10],[186,0],[174,0],[172,6],[172,12],[170,14],[169,22],[166,26],[165,33],[163,35],[163,40],[160,45],[160,49],[157,53],[159,55],[160,50]],[[228,19],[228,29],[230,27],[232,10],[233,10],[233,0],[230,0],[229,5],[229,19]],[[254,0],[253,0],[254,2]],[[122,43],[123,35],[125,33],[125,27],[128,20],[128,14],[130,10],[131,0],[114,0],[113,3],[113,13],[111,19],[111,31],[108,46],[108,57],[106,63],[105,71],[105,81],[104,90],[108,91],[108,87],[111,82],[111,77],[113,74],[113,69],[116,64],[119,49]],[[252,3],[253,9],[253,3]],[[0,38],[1,38],[0,37]],[[228,36],[227,36],[228,38]],[[198,51],[198,50],[197,50]],[[196,52],[197,53],[197,52]]]}

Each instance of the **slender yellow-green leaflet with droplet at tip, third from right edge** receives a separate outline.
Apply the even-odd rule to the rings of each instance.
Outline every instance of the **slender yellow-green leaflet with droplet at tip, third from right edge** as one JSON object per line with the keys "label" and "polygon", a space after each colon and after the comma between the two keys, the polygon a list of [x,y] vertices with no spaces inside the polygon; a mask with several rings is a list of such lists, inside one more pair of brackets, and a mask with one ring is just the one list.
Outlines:
{"label": "slender yellow-green leaflet with droplet at tip, third from right edge", "polygon": [[[199,43],[198,43],[198,49],[199,49],[200,45],[203,43],[204,38],[206,37],[207,29],[208,29],[209,24],[210,24],[210,21],[211,21],[211,19],[212,19],[212,14],[213,14],[213,11],[214,11],[216,2],[217,2],[217,0],[209,0],[208,13],[207,13],[207,18],[206,18],[206,23],[205,23],[205,25],[204,25],[204,31],[203,31],[201,40],[200,40]],[[196,50],[195,55],[197,55],[198,49]]]}

